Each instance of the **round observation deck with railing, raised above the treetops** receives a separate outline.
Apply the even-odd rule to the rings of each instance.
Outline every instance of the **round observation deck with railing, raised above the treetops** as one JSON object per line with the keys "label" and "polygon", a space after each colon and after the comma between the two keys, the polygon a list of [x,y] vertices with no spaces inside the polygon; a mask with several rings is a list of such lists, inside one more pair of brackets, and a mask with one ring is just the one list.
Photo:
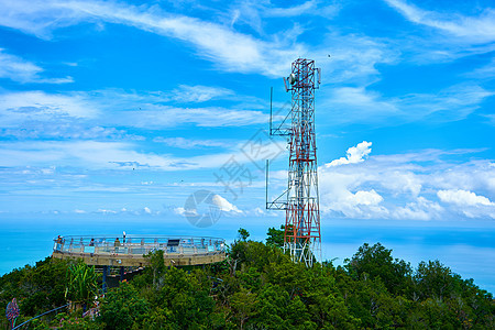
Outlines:
{"label": "round observation deck with railing, raised above the treetops", "polygon": [[55,258],[82,258],[88,265],[143,267],[144,255],[162,250],[166,266],[218,263],[226,258],[226,241],[198,237],[58,237],[54,239]]}

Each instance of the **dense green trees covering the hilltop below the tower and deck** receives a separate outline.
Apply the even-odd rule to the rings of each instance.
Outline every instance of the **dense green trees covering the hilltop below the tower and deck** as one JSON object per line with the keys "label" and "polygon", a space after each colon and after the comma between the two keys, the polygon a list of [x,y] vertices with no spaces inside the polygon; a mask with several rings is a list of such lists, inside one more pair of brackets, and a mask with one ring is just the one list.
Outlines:
{"label": "dense green trees covering the hilltop below the tower and deck", "polygon": [[[495,329],[492,294],[438,261],[421,262],[414,270],[377,243],[361,246],[344,266],[326,262],[306,268],[283,253],[280,237],[280,230],[272,228],[264,244],[248,241],[249,233],[240,231],[228,260],[198,268],[164,267],[160,252],[150,255],[152,265],[142,275],[107,294],[101,317],[88,321],[58,316],[51,324],[67,329]],[[2,276],[0,307],[16,297],[21,315],[28,317],[63,305],[68,266],[47,258]]]}

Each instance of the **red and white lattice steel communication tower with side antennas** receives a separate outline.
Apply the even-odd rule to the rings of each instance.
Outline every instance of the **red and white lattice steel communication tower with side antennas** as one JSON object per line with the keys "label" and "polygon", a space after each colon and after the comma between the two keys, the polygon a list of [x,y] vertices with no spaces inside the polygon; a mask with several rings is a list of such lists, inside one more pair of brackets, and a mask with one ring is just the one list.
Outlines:
{"label": "red and white lattice steel communication tower with side antennas", "polygon": [[[321,261],[315,136],[315,89],[319,88],[320,77],[321,70],[315,67],[315,61],[296,59],[290,75],[284,78],[285,89],[292,92],[292,109],[275,129],[272,128],[271,114],[270,125],[271,135],[288,136],[289,169],[287,190],[274,201],[266,201],[266,208],[286,211],[284,251],[289,251],[294,261],[304,262],[307,266]],[[290,124],[287,122],[289,118]],[[266,185],[267,174],[268,166]]]}

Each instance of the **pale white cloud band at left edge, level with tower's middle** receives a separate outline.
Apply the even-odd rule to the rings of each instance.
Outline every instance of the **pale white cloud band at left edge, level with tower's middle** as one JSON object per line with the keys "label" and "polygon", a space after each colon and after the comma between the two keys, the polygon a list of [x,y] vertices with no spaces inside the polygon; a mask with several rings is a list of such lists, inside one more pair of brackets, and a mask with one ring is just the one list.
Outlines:
{"label": "pale white cloud band at left edge, level with tower's middle", "polygon": [[[264,151],[279,151],[279,146],[270,143]],[[262,158],[262,160],[260,160]],[[199,156],[177,157],[169,154],[145,153],[134,142],[98,141],[23,141],[0,142],[0,166],[78,166],[87,169],[150,169],[150,170],[191,170],[199,168],[220,168],[229,161],[239,164],[261,162],[263,154],[252,160],[238,150]],[[250,174],[252,175],[252,174]]]}

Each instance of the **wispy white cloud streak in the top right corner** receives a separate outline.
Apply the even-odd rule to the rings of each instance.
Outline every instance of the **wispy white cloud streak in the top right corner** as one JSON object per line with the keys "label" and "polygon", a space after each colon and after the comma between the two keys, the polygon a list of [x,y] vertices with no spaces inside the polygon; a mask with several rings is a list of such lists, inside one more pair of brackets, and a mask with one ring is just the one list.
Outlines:
{"label": "wispy white cloud streak in the top right corner", "polygon": [[422,10],[402,0],[385,0],[385,2],[414,23],[427,25],[473,43],[495,41],[494,9],[485,9],[480,16],[464,16],[458,13],[442,14]]}

